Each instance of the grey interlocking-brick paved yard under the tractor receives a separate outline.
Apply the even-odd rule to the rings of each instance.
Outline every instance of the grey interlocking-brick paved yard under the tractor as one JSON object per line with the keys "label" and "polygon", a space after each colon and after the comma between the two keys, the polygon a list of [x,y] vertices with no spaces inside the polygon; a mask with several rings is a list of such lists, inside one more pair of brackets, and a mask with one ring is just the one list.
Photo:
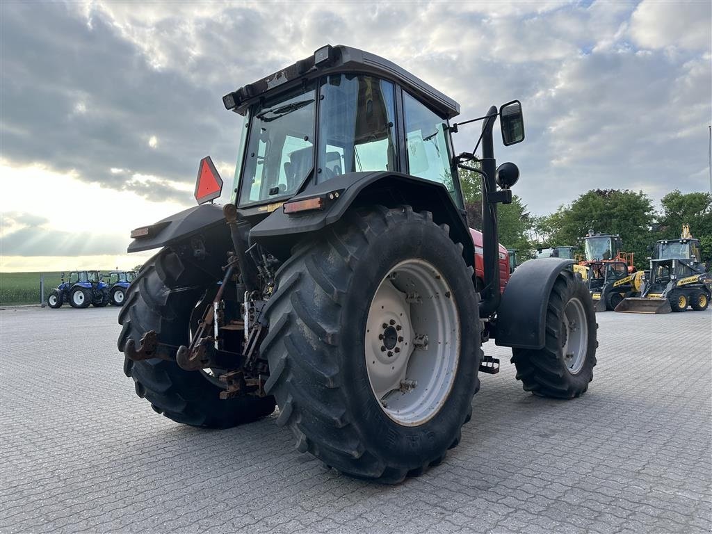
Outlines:
{"label": "grey interlocking-brick paved yard under the tractor", "polygon": [[400,486],[323,468],[274,416],[155,414],[116,315],[0,312],[1,533],[712,530],[712,310],[599,314],[595,379],[570,402],[523,392],[511,365],[485,375],[460,446]]}

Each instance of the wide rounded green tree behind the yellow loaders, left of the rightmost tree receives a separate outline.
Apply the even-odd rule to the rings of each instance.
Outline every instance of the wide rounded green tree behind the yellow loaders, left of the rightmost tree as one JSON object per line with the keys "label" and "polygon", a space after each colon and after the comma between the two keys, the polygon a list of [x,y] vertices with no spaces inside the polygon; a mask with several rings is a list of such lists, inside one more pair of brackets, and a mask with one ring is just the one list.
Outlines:
{"label": "wide rounded green tree behind the yellow loaders, left of the rightmost tree", "polygon": [[642,191],[592,189],[570,205],[560,206],[540,224],[548,232],[548,246],[575,246],[589,230],[619,234],[624,251],[634,253],[636,266],[644,268],[654,240],[654,215],[652,201]]}

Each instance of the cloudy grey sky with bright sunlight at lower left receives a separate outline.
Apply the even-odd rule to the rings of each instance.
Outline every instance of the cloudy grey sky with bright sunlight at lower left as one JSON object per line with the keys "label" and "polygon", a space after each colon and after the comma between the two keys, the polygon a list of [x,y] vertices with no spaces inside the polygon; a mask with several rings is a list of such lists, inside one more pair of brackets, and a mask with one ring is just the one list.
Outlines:
{"label": "cloudy grey sky with bright sunlight at lower left", "polygon": [[194,202],[201,157],[231,182],[221,96],[325,43],[399,63],[461,120],[521,100],[527,139],[496,150],[535,214],[593,187],[706,191],[711,5],[4,0],[0,271],[141,263],[130,229]]}

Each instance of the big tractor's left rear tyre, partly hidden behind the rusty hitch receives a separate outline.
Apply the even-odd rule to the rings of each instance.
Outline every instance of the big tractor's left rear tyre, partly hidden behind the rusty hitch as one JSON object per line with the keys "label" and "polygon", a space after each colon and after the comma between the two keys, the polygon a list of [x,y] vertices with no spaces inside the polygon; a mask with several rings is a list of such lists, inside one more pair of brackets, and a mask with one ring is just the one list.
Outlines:
{"label": "big tractor's left rear tyre, partly hidden behind the rusty hitch", "polygon": [[[119,312],[122,325],[117,345],[138,344],[147,330],[159,342],[188,345],[190,318],[206,288],[216,281],[184,263],[169,248],[153,256],[127,290]],[[136,394],[155,412],[178,423],[224,429],[266,417],[275,408],[274,397],[234,397],[221,400],[224,386],[204,371],[185,371],[169,360],[124,359],[124,372],[134,379]]]}

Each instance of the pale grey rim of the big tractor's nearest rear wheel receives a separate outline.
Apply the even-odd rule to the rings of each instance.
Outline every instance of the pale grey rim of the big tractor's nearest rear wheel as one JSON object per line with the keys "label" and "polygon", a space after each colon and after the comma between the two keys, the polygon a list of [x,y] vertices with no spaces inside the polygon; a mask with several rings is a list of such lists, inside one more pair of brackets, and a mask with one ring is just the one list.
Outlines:
{"label": "pale grey rim of the big tractor's nearest rear wheel", "polygon": [[439,412],[454,383],[459,336],[440,271],[418,259],[394,266],[372,298],[365,333],[368,379],[388,417],[418,426]]}

